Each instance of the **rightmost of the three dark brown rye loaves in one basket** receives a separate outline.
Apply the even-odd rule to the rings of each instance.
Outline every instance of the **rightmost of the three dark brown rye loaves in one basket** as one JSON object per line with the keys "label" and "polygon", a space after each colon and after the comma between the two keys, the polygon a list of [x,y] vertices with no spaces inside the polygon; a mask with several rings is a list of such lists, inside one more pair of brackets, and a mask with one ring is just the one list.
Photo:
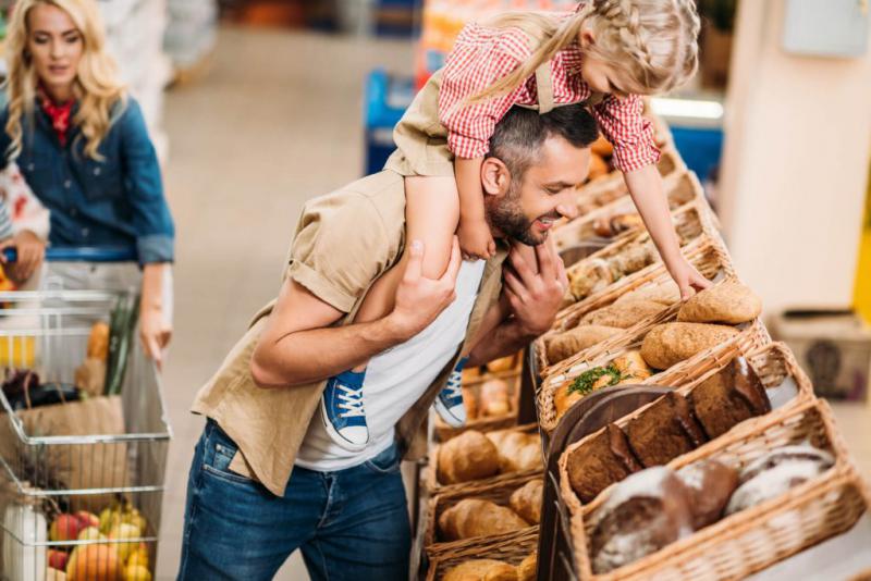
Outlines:
{"label": "rightmost of the three dark brown rye loaves in one basket", "polygon": [[744,357],[736,357],[716,375],[697,385],[689,400],[711,440],[747,419],[771,411],[765,387]]}

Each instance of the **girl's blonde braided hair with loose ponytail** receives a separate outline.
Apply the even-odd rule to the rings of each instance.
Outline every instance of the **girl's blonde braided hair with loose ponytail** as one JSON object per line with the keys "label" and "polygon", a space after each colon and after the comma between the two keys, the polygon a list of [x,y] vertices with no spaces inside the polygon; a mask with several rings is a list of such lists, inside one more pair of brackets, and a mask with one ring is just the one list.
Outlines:
{"label": "girl's blonde braided hair with loose ponytail", "polygon": [[698,69],[700,22],[694,0],[588,0],[565,20],[548,12],[508,12],[487,25],[519,28],[530,38],[532,53],[470,102],[512,91],[559,51],[578,42],[584,29],[594,38],[585,54],[622,71],[625,86],[619,88],[626,92],[665,92]]}

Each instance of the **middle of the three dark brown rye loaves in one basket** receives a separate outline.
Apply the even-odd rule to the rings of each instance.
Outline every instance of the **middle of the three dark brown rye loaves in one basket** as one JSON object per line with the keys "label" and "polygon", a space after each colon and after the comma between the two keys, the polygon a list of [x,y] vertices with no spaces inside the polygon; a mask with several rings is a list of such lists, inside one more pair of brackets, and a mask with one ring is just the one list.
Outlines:
{"label": "middle of the three dark brown rye loaves in one basket", "polygon": [[668,463],[701,446],[704,436],[686,398],[671,392],[626,424],[626,438],[646,467]]}

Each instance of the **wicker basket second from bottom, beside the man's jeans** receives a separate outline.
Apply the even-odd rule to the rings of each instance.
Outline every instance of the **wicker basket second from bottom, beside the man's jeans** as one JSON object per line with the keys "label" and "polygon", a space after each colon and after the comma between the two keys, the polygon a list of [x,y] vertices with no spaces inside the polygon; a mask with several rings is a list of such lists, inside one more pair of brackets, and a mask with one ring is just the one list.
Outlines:
{"label": "wicker basket second from bottom, beside the man's jeans", "polygon": [[[427,523],[424,531],[424,549],[430,558],[436,558],[445,552],[452,551],[454,547],[466,544],[470,539],[462,541],[443,541],[438,532],[439,518],[442,512],[456,505],[459,500],[465,498],[480,498],[482,500],[491,500],[500,506],[508,506],[508,500],[514,491],[524,486],[530,480],[541,479],[542,477],[513,477],[496,483],[481,484],[478,482],[469,483],[465,486],[459,486],[450,493],[442,493],[432,496],[427,503]],[[531,528],[537,528],[531,524]]]}

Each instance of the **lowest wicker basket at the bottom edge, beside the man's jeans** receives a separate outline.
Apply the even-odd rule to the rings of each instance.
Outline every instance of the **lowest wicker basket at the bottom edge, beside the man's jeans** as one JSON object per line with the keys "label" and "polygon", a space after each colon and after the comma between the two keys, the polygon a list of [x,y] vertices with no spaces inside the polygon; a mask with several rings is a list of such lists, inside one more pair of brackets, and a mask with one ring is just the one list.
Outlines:
{"label": "lowest wicker basket at the bottom edge, beside the man's jeans", "polygon": [[473,559],[495,559],[517,566],[536,551],[538,527],[498,537],[469,540],[433,558],[427,571],[427,581],[441,581],[452,568]]}

